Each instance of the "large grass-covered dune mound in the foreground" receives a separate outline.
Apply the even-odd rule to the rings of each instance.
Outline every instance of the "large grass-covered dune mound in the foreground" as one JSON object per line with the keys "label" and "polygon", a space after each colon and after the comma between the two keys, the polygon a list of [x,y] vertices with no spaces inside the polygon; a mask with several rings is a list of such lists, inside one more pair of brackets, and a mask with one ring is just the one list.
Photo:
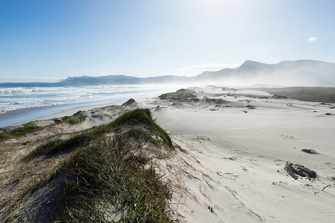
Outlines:
{"label": "large grass-covered dune mound in the foreground", "polygon": [[[169,135],[153,122],[149,109],[134,109],[110,124],[43,143],[15,168],[8,185],[16,191],[0,198],[0,209],[6,207],[7,213],[2,221],[11,222],[36,191],[56,182],[51,184],[56,191],[45,195],[52,199],[46,204],[52,205],[56,222],[172,223],[171,191],[156,172],[157,161],[169,158],[170,148]],[[23,215],[34,222],[38,214]]]}

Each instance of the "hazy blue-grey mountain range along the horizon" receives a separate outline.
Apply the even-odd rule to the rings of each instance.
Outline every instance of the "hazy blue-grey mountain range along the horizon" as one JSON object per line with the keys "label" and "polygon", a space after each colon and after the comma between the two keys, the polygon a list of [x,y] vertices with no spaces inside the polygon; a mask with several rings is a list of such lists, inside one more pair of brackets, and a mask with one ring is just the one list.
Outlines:
{"label": "hazy blue-grey mountain range along the horizon", "polygon": [[165,75],[133,77],[108,75],[100,77],[68,77],[59,83],[77,84],[279,84],[286,86],[335,86],[335,63],[316,60],[282,61],[264,64],[247,60],[237,68],[205,71],[197,76]]}

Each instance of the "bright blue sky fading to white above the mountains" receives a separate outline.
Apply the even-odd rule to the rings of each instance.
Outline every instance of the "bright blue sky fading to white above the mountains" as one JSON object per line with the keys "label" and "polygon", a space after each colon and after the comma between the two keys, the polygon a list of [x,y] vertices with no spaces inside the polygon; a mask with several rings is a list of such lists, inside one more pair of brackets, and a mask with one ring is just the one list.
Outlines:
{"label": "bright blue sky fading to white above the mountains", "polygon": [[0,0],[0,82],[335,63],[335,1]]}

